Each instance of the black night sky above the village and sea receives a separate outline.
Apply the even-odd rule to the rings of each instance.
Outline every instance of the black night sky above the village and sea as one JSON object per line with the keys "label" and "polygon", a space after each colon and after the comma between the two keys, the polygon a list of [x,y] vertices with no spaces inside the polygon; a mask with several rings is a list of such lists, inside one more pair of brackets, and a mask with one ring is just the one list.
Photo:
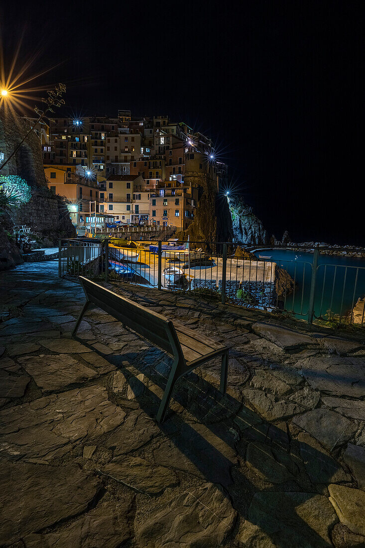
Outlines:
{"label": "black night sky above the village and sea", "polygon": [[5,64],[25,26],[17,66],[61,63],[38,82],[66,84],[65,115],[184,120],[267,230],[364,246],[364,2],[237,5],[7,3]]}

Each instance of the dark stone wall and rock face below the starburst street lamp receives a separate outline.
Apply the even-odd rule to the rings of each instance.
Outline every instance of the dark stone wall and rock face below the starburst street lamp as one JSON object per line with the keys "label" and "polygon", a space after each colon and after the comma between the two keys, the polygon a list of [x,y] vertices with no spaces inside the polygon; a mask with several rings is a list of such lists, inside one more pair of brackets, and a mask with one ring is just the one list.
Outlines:
{"label": "dark stone wall and rock face below the starburst street lamp", "polygon": [[[28,132],[28,123],[9,109],[0,111],[0,151],[8,158]],[[48,190],[44,175],[41,144],[35,133],[26,141],[10,162],[1,170],[2,175],[19,175],[31,187],[31,200],[14,210],[15,224],[28,225],[39,233],[44,243],[55,244],[59,237],[75,236],[66,204]],[[0,241],[0,253],[5,247]]]}

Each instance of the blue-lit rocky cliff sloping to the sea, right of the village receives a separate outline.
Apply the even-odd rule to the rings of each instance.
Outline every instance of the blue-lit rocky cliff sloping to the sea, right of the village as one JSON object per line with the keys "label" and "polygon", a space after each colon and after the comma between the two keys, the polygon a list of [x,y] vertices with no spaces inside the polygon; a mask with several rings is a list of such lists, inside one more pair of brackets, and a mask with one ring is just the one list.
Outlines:
{"label": "blue-lit rocky cliff sloping to the sea, right of the village", "polygon": [[233,241],[254,245],[270,244],[269,233],[243,197],[230,196],[227,200],[232,216]]}

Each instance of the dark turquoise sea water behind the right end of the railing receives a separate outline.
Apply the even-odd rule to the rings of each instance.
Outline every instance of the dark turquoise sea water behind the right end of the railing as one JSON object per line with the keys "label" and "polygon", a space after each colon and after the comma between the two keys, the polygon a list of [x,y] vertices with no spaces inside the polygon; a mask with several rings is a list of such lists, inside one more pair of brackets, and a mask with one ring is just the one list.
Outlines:
{"label": "dark turquoise sea water behind the right end of the railing", "polygon": [[[271,250],[255,252],[255,255],[275,261],[286,269],[297,286],[288,295],[285,309],[293,311],[297,317],[306,317],[312,276],[312,253],[299,253],[291,250]],[[365,295],[365,260],[351,257],[320,255],[318,258],[315,292],[315,317],[326,314],[327,310],[344,315],[355,306],[357,299]]]}

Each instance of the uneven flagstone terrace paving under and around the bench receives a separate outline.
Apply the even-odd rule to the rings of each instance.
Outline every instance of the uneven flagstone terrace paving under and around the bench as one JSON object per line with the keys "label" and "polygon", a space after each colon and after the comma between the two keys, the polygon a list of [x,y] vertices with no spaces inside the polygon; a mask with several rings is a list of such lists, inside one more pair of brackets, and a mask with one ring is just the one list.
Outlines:
{"label": "uneven flagstone terrace paving under and around the bench", "polygon": [[158,425],[165,353],[96,309],[71,339],[55,261],[0,281],[1,546],[365,545],[363,340],[119,284],[231,349]]}

